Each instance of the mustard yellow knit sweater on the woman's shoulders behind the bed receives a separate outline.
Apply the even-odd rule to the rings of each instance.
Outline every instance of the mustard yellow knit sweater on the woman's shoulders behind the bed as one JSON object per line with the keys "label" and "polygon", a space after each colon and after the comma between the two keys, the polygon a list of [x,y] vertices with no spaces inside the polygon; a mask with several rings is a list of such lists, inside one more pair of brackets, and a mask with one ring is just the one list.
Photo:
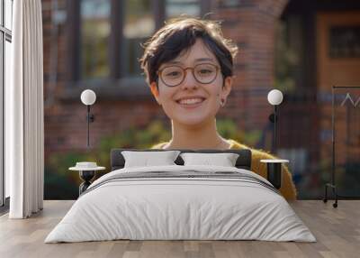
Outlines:
{"label": "mustard yellow knit sweater on the woman's shoulders behind the bed", "polygon": [[[245,144],[238,143],[235,140],[229,139],[230,149],[250,149],[251,150],[251,170],[259,174],[260,176],[266,178],[267,176],[267,167],[266,163],[260,162],[260,160],[266,159],[276,159],[275,156],[271,155],[268,152],[264,152],[257,149],[251,149]],[[151,149],[163,149],[163,146],[166,143],[157,143],[151,147]],[[296,188],[293,184],[292,174],[286,166],[283,166],[283,181],[280,192],[287,200],[296,199]]]}

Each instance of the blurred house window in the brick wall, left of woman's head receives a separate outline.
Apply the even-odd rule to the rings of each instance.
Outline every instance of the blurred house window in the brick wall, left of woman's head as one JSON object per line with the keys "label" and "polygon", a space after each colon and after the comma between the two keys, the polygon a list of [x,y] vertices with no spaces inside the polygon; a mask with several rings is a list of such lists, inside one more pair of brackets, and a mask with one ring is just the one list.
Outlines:
{"label": "blurred house window in the brick wall, left of woman's head", "polygon": [[201,0],[69,1],[68,45],[72,48],[67,51],[69,79],[81,85],[95,81],[98,86],[121,78],[127,81],[141,78],[141,43],[167,18],[205,14],[206,3]]}

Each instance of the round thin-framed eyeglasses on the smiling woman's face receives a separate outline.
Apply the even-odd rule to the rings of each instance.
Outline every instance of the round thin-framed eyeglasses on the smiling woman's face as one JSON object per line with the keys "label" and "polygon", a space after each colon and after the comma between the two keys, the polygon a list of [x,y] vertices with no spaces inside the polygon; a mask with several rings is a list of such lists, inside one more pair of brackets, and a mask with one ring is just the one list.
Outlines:
{"label": "round thin-framed eyeglasses on the smiling woman's face", "polygon": [[219,67],[211,63],[200,63],[194,67],[182,68],[181,66],[167,66],[157,71],[158,77],[168,87],[180,85],[186,77],[186,70],[191,69],[193,78],[199,83],[209,84],[218,76]]}

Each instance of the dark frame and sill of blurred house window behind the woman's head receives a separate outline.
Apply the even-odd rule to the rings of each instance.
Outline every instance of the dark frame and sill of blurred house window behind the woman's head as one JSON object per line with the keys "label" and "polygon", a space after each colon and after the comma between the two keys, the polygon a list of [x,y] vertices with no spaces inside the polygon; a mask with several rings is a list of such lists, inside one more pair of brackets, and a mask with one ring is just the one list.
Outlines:
{"label": "dark frame and sill of blurred house window behind the woman's head", "polygon": [[[121,68],[121,41],[123,38],[124,1],[110,0],[111,4],[111,33],[109,50],[112,53],[109,60],[109,78],[82,79],[80,60],[80,1],[67,0],[67,83],[59,98],[76,99],[85,88],[96,90],[102,97],[149,98],[151,94],[143,77],[128,77]],[[166,0],[153,0],[152,13],[155,19],[155,30],[163,25],[165,20]],[[209,1],[199,0],[201,15],[210,10]]]}

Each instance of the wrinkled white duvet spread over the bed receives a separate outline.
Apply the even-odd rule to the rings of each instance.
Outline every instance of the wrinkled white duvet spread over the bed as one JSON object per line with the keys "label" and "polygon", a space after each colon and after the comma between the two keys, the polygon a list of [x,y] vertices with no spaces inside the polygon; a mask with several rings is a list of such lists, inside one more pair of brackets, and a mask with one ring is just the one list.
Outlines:
{"label": "wrinkled white duvet spread over the bed", "polygon": [[123,173],[151,171],[235,171],[270,184],[252,171],[231,167],[171,165],[114,170],[93,182],[45,243],[114,239],[316,241],[281,195],[252,180],[109,180]]}

